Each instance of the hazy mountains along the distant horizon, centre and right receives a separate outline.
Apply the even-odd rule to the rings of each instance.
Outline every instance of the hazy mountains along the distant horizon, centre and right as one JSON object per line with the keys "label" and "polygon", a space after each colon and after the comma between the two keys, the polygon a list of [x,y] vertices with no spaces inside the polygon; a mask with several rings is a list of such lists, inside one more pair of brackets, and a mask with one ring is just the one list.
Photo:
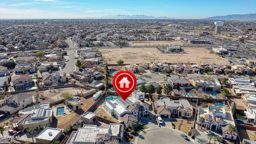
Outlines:
{"label": "hazy mountains along the distant horizon, centre and right", "polygon": [[[166,16],[154,17],[154,16],[145,16],[145,15],[108,15],[102,17],[85,17],[82,19],[136,19],[136,20],[174,20],[178,18],[169,18]],[[181,19],[181,18],[179,18]],[[213,16],[209,18],[203,18],[202,20],[256,20],[256,14],[231,14],[227,16]]]}

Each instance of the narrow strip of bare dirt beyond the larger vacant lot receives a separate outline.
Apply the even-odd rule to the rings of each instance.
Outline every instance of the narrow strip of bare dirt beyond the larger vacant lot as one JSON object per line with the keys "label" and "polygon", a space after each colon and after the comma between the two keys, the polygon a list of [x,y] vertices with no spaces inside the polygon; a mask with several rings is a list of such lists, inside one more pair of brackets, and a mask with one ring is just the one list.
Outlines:
{"label": "narrow strip of bare dirt beyond the larger vacant lot", "polygon": [[180,41],[160,41],[160,40],[155,40],[155,41],[131,41],[129,42],[133,46],[182,46],[183,43]]}

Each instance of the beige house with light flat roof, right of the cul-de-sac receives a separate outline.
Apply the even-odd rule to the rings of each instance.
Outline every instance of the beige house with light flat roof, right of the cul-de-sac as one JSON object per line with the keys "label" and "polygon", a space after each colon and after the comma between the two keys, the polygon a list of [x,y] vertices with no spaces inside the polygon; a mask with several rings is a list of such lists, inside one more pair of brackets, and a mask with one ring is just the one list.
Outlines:
{"label": "beige house with light flat roof, right of the cul-de-sac", "polygon": [[[231,110],[226,110],[223,106],[209,106],[207,108],[199,107],[197,122],[200,117],[204,117],[205,121],[202,124],[210,130],[221,130],[224,132],[223,126],[228,124],[235,125]],[[225,137],[224,137],[225,138]]]}

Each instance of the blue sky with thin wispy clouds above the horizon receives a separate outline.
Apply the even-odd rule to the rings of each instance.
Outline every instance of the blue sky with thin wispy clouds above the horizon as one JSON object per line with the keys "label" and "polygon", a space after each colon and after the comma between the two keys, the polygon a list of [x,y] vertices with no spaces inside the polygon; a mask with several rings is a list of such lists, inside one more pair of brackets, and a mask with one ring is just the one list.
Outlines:
{"label": "blue sky with thin wispy clouds above the horizon", "polygon": [[0,0],[0,19],[146,15],[207,18],[256,13],[256,0]]}

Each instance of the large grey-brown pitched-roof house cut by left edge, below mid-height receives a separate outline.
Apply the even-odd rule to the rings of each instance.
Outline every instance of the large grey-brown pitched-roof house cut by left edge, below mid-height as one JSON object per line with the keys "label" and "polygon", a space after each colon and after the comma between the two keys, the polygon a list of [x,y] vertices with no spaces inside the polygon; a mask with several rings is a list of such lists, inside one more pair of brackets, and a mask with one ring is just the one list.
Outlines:
{"label": "large grey-brown pitched-roof house cut by left edge, below mid-height", "polygon": [[0,113],[2,114],[14,114],[22,108],[32,104],[32,94],[18,93],[14,96],[10,96],[5,100],[0,101]]}

